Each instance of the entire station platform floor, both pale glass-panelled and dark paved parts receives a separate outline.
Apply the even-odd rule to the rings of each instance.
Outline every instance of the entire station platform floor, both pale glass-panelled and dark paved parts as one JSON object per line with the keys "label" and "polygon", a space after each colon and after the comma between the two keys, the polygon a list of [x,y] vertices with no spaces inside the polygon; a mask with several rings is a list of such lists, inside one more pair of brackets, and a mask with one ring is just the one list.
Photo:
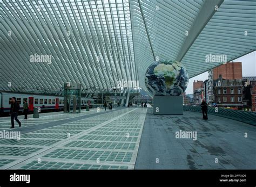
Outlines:
{"label": "entire station platform floor, both pale glass-panelled and dark paved parts", "polygon": [[[10,117],[1,118],[1,131],[20,131],[21,139],[0,139],[0,169],[255,169],[256,126],[208,118],[117,107],[30,115],[13,130]],[[180,131],[197,136],[177,138]]]}

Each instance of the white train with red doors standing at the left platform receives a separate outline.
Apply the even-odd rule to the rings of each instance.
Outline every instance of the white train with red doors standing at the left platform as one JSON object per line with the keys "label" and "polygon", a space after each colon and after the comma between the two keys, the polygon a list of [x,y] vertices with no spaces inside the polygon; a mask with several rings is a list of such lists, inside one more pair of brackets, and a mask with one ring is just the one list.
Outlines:
{"label": "white train with red doors standing at the left platform", "polygon": [[[64,97],[30,94],[30,93],[15,93],[15,92],[0,92],[0,116],[6,116],[10,113],[11,98],[16,97],[19,103],[19,111],[23,111],[23,103],[26,100],[28,102],[29,111],[32,112],[34,107],[40,107],[42,112],[50,111],[62,111],[64,109]],[[95,100],[91,98],[81,98],[81,108],[85,109],[87,105],[93,107]],[[73,106],[72,99],[70,107]]]}

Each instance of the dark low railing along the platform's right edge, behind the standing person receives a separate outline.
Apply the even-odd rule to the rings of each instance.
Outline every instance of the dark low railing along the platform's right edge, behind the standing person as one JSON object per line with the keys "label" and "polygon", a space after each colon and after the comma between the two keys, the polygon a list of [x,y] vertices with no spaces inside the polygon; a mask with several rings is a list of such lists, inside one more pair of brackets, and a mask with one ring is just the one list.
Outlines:
{"label": "dark low railing along the platform's right edge, behind the standing person", "polygon": [[[192,111],[192,112],[202,112],[201,106],[186,106],[186,105],[184,105],[183,110],[184,111]],[[223,109],[221,107],[218,107],[218,112],[215,112],[214,107],[208,106],[207,113],[213,114],[215,116],[220,116],[220,117],[224,117],[224,118],[241,121],[243,123],[256,126],[256,113],[255,112]]]}

